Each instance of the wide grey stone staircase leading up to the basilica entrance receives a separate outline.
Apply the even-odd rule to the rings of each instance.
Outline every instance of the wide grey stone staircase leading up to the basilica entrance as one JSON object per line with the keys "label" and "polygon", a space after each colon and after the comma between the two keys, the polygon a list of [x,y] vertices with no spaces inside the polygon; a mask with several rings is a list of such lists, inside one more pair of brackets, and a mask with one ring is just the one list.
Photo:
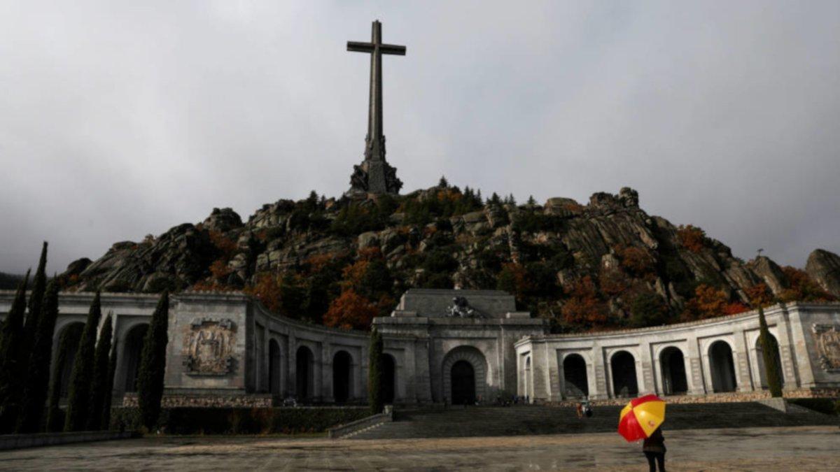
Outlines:
{"label": "wide grey stone staircase leading up to the basilica entrance", "polygon": [[[398,410],[394,422],[355,433],[354,439],[463,438],[530,434],[615,432],[621,406],[596,406],[593,416],[578,419],[572,407],[454,406],[448,410]],[[829,417],[806,408],[784,413],[758,402],[701,403],[667,406],[667,429],[712,427],[790,427],[837,425]]]}

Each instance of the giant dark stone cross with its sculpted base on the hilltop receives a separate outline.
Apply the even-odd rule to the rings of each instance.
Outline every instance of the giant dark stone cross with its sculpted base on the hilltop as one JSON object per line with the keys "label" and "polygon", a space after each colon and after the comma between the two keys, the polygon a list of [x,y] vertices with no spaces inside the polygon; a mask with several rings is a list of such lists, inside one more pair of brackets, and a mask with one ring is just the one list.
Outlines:
{"label": "giant dark stone cross with its sculpted base on the hilltop", "polygon": [[398,193],[402,181],[396,168],[385,160],[385,134],[382,132],[382,55],[405,55],[406,47],[382,44],[382,24],[373,22],[370,43],[347,42],[347,50],[370,54],[370,96],[365,160],[353,166],[348,194]]}

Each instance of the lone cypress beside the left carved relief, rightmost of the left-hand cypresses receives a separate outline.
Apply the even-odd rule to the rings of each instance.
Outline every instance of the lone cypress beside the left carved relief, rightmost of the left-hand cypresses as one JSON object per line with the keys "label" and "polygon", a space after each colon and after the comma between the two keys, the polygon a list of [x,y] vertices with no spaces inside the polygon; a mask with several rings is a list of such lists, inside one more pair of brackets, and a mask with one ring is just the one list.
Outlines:
{"label": "lone cypress beside the left carved relief, rightmost of the left-hand cypresses", "polygon": [[140,419],[148,429],[155,427],[163,399],[163,377],[166,369],[166,330],[169,324],[169,291],[160,295],[149,330],[143,340],[140,369],[137,375],[137,402]]}

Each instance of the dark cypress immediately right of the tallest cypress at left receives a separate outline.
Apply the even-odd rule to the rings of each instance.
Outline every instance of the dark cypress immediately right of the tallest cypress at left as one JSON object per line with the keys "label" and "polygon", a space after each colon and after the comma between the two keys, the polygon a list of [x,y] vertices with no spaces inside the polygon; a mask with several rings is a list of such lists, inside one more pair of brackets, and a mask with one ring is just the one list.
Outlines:
{"label": "dark cypress immediately right of the tallest cypress at left", "polygon": [[52,362],[52,337],[55,318],[58,317],[58,279],[53,277],[47,285],[44,301],[40,304],[38,328],[35,330],[32,354],[24,381],[24,398],[18,417],[17,433],[37,433],[44,417],[47,387],[50,385]]}

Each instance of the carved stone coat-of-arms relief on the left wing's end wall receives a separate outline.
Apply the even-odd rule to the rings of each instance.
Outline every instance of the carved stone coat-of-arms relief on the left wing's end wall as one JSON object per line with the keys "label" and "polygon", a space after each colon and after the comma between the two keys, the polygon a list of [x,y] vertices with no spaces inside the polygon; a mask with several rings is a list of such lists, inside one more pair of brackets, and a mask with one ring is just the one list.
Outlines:
{"label": "carved stone coat-of-arms relief on the left wing's end wall", "polygon": [[188,375],[227,375],[234,364],[236,324],[228,318],[193,318],[184,336]]}

